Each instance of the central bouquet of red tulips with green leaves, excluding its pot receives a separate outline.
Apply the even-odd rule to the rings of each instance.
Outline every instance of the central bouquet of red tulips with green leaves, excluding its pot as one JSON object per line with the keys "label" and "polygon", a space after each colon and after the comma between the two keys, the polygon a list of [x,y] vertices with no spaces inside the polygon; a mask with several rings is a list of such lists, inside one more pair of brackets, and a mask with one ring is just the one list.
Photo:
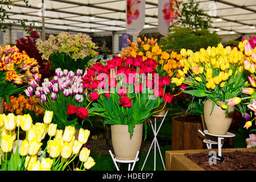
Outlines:
{"label": "central bouquet of red tulips with green leaves, excluding its pot", "polygon": [[160,110],[154,110],[162,102],[171,102],[174,96],[165,92],[170,77],[160,77],[155,72],[156,65],[155,60],[143,61],[137,55],[125,60],[114,57],[105,66],[96,63],[86,69],[82,78],[84,90],[89,101],[94,101],[93,110],[105,118],[104,126],[128,125],[132,137],[135,125],[158,113]]}

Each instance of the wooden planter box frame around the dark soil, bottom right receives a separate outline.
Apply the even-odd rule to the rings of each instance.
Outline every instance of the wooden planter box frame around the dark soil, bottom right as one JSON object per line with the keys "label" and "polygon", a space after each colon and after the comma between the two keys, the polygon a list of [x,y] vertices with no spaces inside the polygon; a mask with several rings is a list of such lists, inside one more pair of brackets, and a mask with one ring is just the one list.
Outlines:
{"label": "wooden planter box frame around the dark soil, bottom right", "polygon": [[[223,152],[251,151],[255,152],[256,148],[223,148]],[[167,171],[205,171],[205,169],[198,166],[192,160],[188,159],[184,154],[196,154],[200,152],[216,151],[218,149],[199,149],[199,150],[174,150],[166,151],[166,170]]]}

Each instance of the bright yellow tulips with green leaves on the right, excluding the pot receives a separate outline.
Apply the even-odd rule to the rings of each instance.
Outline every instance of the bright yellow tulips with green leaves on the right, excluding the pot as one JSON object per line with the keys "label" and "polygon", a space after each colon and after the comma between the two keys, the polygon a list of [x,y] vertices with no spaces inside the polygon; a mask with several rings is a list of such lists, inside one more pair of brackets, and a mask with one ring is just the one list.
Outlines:
{"label": "bright yellow tulips with green leaves on the right, excluding the pot", "polygon": [[212,100],[213,106],[220,105],[227,114],[229,106],[226,100],[241,96],[242,88],[246,87],[243,53],[236,47],[224,48],[221,43],[217,47],[201,48],[197,52],[181,49],[180,53],[184,57],[180,60],[183,67],[179,71],[181,77],[172,78],[171,82],[176,85],[187,84],[188,90],[184,93]]}

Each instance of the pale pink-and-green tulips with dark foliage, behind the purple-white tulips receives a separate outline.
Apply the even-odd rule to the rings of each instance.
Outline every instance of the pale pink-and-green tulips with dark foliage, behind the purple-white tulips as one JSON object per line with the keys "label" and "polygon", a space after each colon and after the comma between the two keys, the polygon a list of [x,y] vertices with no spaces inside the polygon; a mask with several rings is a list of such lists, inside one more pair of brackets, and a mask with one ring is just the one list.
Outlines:
{"label": "pale pink-and-green tulips with dark foliage, behind the purple-white tulips", "polygon": [[48,40],[37,42],[36,47],[43,59],[51,60],[53,70],[61,68],[76,72],[98,54],[94,51],[96,46],[90,36],[81,33],[61,32],[57,36],[50,35]]}

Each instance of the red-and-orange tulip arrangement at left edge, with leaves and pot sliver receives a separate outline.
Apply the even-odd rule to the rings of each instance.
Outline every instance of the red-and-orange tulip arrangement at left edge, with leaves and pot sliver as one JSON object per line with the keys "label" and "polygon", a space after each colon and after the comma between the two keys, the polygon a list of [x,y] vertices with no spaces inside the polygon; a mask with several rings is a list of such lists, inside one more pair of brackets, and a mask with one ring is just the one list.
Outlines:
{"label": "red-and-orange tulip arrangement at left edge, with leaves and pot sliver", "polygon": [[9,96],[24,89],[28,82],[33,80],[32,75],[40,77],[38,62],[30,58],[25,51],[10,44],[0,46],[0,113],[3,113],[4,98],[10,102]]}

